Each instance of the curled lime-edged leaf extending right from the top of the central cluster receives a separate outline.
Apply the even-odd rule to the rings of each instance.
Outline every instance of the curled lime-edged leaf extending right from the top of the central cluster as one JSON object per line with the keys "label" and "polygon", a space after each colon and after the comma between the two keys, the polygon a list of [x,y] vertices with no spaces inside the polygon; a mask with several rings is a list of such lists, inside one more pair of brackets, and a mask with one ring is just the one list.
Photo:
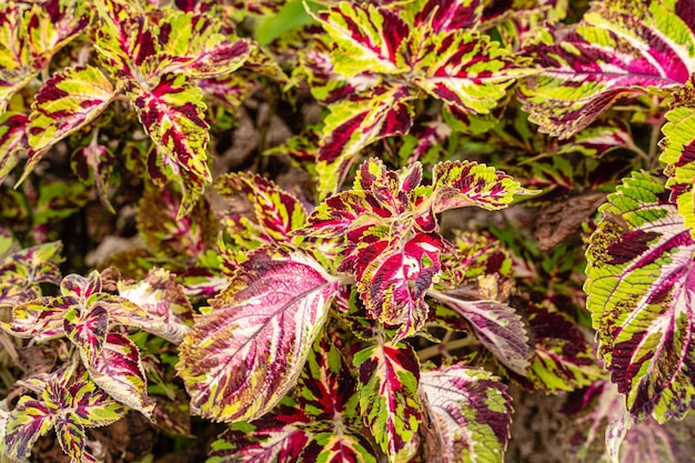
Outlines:
{"label": "curled lime-edged leaf extending right from the top of the central cluster", "polygon": [[504,172],[469,161],[446,161],[434,167],[434,212],[476,205],[495,210],[507,207],[514,194],[530,194]]}

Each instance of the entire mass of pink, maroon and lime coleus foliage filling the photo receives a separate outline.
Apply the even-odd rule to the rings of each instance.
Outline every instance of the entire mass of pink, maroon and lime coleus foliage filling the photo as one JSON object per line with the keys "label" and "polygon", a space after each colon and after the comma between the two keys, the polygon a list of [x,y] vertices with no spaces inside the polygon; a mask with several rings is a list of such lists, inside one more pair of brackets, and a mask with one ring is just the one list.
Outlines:
{"label": "entire mass of pink, maroon and lime coleus foliage filling the photo", "polygon": [[[0,7],[0,180],[21,183],[0,217],[24,241],[0,227],[0,365],[17,379],[1,459],[52,430],[72,461],[102,459],[90,430],[133,410],[179,435],[189,413],[230,423],[212,462],[500,462],[508,384],[582,397],[575,461],[687,454],[659,423],[694,403],[693,0],[216,3]],[[266,49],[245,37],[288,12],[310,26]],[[212,175],[211,132],[259,82],[289,102],[308,84],[325,108],[272,150],[313,175],[318,205]],[[110,259],[135,280],[62,278],[50,227],[89,201],[43,181],[64,152],[112,211],[119,179],[144,183],[147,249]],[[652,172],[616,181],[616,159]],[[497,239],[442,224],[515,194],[581,205],[585,275],[565,239],[581,220],[542,246],[523,222]],[[36,345],[56,360],[20,372]]]}

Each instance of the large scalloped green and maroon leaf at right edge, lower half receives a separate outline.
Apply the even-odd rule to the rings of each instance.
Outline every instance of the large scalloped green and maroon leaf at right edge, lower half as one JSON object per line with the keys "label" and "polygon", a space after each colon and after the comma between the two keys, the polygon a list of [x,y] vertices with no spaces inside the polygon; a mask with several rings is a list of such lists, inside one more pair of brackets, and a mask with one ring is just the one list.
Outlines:
{"label": "large scalloped green and maroon leaf at right edge, lower half", "polygon": [[695,403],[695,241],[646,173],[624,179],[600,211],[585,284],[600,355],[635,419],[682,417]]}

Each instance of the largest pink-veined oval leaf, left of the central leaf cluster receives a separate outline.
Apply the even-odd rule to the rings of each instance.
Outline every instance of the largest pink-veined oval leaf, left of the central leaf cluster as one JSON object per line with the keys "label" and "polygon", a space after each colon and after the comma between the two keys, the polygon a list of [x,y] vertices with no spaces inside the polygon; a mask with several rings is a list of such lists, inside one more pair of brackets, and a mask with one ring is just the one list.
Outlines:
{"label": "largest pink-veined oval leaf, left of the central leaf cluster", "polygon": [[180,345],[192,407],[216,421],[269,412],[294,386],[336,291],[299,251],[261,250],[243,262]]}

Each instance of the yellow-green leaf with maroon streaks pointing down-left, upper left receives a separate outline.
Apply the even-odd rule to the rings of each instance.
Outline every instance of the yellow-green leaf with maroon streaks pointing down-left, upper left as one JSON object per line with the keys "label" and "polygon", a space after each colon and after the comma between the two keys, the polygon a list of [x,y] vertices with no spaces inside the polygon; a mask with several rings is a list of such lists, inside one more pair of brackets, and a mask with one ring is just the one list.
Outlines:
{"label": "yellow-green leaf with maroon streaks pointing down-left, upper left", "polygon": [[92,66],[69,68],[49,79],[37,94],[29,117],[30,151],[23,177],[52,145],[94,120],[118,92]]}

